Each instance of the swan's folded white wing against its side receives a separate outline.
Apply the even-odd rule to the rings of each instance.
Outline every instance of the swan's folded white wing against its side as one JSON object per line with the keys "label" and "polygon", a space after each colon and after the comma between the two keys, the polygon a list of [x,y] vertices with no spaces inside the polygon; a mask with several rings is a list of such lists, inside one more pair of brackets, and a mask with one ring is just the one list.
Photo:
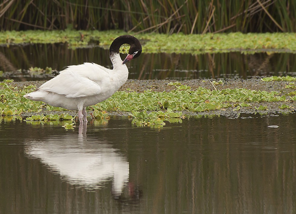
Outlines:
{"label": "swan's folded white wing against its side", "polygon": [[72,71],[60,73],[38,89],[65,95],[68,98],[87,97],[101,93],[101,86]]}

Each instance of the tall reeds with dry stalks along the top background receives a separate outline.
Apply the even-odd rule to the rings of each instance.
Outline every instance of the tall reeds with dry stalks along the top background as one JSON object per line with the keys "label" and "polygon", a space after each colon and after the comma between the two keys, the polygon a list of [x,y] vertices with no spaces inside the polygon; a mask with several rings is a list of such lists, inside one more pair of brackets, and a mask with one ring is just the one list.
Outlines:
{"label": "tall reeds with dry stalks along the top background", "polygon": [[294,0],[4,0],[1,30],[124,29],[134,32],[295,32]]}

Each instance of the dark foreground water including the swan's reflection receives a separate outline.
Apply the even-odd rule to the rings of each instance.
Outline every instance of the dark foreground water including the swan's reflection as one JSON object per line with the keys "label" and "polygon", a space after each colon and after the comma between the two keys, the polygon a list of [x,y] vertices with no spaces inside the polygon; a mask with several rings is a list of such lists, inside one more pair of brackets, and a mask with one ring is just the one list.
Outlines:
{"label": "dark foreground water including the swan's reflection", "polygon": [[[0,123],[0,213],[295,213],[296,114]],[[279,128],[269,128],[278,125]]]}

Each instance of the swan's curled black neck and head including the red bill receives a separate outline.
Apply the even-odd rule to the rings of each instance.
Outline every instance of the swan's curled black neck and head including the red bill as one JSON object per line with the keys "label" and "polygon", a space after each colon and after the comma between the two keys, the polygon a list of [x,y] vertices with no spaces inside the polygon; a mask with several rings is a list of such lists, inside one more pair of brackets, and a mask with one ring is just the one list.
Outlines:
{"label": "swan's curled black neck and head including the red bill", "polygon": [[119,53],[119,48],[123,44],[129,44],[130,50],[128,51],[127,57],[124,59],[122,64],[125,64],[126,62],[135,59],[140,56],[142,53],[142,45],[140,41],[133,36],[130,35],[124,35],[117,37],[110,46],[110,55],[112,53]]}

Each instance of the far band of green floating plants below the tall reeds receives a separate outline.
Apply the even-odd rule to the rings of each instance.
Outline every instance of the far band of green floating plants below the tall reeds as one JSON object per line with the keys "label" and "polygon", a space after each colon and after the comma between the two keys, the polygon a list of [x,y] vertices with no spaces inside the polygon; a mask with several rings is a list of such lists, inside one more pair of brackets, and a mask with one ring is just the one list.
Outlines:
{"label": "far band of green floating plants below the tall reeds", "polygon": [[[100,46],[108,49],[125,31],[1,31],[0,44],[68,43],[69,48]],[[134,33],[130,33],[134,35]],[[296,33],[137,34],[143,53],[295,52]],[[127,46],[121,47],[126,53]]]}

